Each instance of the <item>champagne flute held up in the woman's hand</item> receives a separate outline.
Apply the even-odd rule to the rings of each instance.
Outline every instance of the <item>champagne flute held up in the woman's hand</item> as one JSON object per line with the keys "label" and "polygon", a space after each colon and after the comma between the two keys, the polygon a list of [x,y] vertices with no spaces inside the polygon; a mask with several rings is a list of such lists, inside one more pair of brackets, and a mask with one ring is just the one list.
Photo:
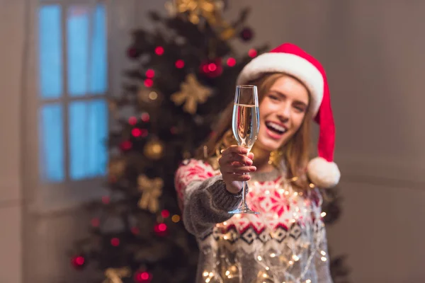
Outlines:
{"label": "champagne flute held up in the woman's hand", "polygon": [[[233,120],[232,130],[234,137],[239,146],[243,146],[251,151],[252,146],[259,134],[260,129],[260,113],[259,113],[259,97],[256,86],[237,86],[234,94]],[[232,210],[231,214],[259,214],[249,209],[246,205],[246,190],[248,183],[243,182],[242,185],[242,203]]]}

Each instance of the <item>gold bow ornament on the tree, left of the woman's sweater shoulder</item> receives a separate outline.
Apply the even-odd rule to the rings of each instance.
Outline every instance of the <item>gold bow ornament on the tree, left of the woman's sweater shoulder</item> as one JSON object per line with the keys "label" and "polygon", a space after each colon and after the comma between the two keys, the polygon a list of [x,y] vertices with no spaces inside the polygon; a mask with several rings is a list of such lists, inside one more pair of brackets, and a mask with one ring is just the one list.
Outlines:
{"label": "gold bow ornament on the tree, left of the woman's sweater shoulder", "polygon": [[148,209],[149,212],[155,213],[159,209],[158,198],[162,195],[162,187],[164,181],[161,178],[149,179],[146,175],[140,175],[137,178],[139,190],[142,191],[142,197],[139,200],[141,209]]}

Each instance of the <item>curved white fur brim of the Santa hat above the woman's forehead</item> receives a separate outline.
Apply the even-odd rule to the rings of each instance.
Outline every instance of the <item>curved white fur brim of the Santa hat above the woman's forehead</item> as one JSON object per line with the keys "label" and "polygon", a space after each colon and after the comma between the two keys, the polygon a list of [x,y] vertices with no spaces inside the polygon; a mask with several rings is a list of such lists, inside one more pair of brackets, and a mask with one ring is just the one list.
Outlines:
{"label": "curved white fur brim of the Santa hat above the woman's forehead", "polygon": [[323,98],[323,76],[320,71],[306,59],[289,53],[263,53],[246,64],[237,79],[237,84],[244,84],[258,79],[261,74],[283,72],[295,76],[307,86],[312,96],[311,108],[316,115]]}

